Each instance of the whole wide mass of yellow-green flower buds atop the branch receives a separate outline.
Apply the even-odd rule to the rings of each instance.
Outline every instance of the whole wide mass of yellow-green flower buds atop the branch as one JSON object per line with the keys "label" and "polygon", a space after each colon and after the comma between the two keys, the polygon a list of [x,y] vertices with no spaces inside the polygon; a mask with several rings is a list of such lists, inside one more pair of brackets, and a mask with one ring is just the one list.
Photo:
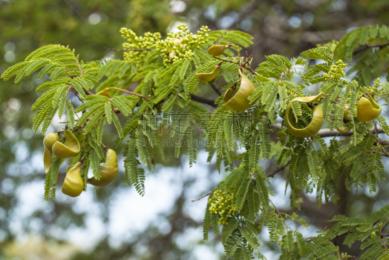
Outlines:
{"label": "whole wide mass of yellow-green flower buds atop the branch", "polygon": [[[208,38],[208,26],[202,26],[197,35],[190,33],[185,24],[177,26],[178,32],[170,32],[166,39],[161,40],[159,33],[145,33],[144,36],[138,37],[132,30],[122,28],[120,30],[122,37],[127,40],[123,43],[124,50],[131,49],[156,49],[160,50],[160,56],[163,58],[163,65],[166,67],[175,62],[192,58],[193,50],[200,49]],[[124,52],[124,60],[129,63],[139,63],[149,53],[141,52]]]}

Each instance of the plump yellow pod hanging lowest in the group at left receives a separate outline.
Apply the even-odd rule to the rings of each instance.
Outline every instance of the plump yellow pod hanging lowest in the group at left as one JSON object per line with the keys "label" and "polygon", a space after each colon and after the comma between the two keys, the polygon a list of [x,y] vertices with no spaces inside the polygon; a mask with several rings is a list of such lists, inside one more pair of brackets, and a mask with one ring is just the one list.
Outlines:
{"label": "plump yellow pod hanging lowest in the group at left", "polygon": [[81,177],[80,163],[76,163],[66,174],[64,184],[62,185],[62,193],[77,197],[84,190],[84,181]]}

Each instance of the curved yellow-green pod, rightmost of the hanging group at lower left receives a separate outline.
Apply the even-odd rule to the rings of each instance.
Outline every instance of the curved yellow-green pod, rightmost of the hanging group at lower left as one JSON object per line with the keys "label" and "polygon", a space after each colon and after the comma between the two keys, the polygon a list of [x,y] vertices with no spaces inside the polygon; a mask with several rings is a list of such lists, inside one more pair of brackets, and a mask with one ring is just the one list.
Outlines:
{"label": "curved yellow-green pod, rightmost of the hanging group at lower left", "polygon": [[89,178],[88,182],[93,186],[107,186],[115,180],[118,174],[118,157],[112,149],[106,151],[106,162],[100,167],[100,180],[96,180],[94,177]]}

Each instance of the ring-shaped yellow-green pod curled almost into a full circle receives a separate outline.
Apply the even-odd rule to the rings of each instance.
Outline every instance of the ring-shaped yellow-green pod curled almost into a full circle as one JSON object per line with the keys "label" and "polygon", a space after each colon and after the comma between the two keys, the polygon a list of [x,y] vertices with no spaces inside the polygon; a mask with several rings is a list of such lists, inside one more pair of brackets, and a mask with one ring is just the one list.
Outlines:
{"label": "ring-shaped yellow-green pod curled almost into a full circle", "polygon": [[[320,92],[317,96],[298,97],[298,98],[294,98],[292,101],[297,100],[300,103],[312,104],[318,98],[320,98],[322,94],[323,93]],[[285,124],[289,132],[295,137],[301,137],[301,138],[309,138],[316,135],[320,130],[321,126],[323,125],[323,120],[324,120],[323,110],[317,105],[314,106],[311,122],[309,123],[308,126],[300,129],[297,128],[296,122],[294,121],[291,102],[289,102],[285,111]]]}

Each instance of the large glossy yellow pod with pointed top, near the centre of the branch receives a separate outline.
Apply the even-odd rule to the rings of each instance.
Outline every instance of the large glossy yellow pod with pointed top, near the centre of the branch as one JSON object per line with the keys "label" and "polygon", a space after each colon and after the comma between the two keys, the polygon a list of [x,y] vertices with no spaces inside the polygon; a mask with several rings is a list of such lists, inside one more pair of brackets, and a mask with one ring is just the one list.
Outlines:
{"label": "large glossy yellow pod with pointed top, near the centre of the branch", "polygon": [[242,80],[238,92],[223,106],[232,111],[245,111],[251,107],[248,97],[252,92],[255,91],[255,87],[252,86],[251,82],[248,80],[245,74],[238,69],[239,75],[241,75]]}

